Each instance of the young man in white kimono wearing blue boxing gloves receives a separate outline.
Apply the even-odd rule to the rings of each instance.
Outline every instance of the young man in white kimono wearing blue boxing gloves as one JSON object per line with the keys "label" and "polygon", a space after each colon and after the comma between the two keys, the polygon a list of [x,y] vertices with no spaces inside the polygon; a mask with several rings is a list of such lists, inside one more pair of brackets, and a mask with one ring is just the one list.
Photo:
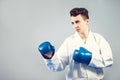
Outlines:
{"label": "young man in white kimono wearing blue boxing gloves", "polygon": [[62,71],[69,66],[66,80],[101,80],[103,68],[113,64],[109,43],[89,27],[89,15],[85,8],[70,11],[75,34],[65,39],[58,51],[46,41],[39,51],[52,71]]}

